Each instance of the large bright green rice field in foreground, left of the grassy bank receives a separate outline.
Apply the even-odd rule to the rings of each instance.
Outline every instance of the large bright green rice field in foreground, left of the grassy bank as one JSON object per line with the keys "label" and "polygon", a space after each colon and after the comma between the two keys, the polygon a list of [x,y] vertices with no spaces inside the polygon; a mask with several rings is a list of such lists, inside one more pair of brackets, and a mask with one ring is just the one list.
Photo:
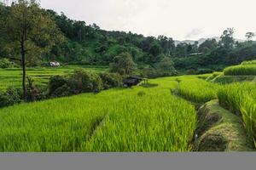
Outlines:
{"label": "large bright green rice field in foreground, left of the grassy bank", "polygon": [[172,78],[150,83],[1,109],[0,151],[191,150],[195,107]]}

